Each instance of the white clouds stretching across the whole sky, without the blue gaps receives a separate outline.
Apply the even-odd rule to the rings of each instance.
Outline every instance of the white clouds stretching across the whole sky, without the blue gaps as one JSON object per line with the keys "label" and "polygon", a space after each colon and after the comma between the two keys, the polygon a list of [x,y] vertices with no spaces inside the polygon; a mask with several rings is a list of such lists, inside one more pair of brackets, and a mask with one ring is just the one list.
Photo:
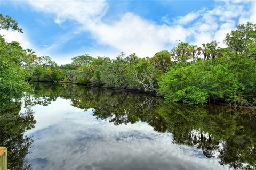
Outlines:
{"label": "white clouds stretching across the whole sky, without the blue gaps", "polygon": [[[169,19],[167,16],[170,15],[167,15],[162,18],[167,25],[148,21],[130,12],[125,13],[119,20],[106,22],[102,19],[108,10],[106,1],[28,1],[28,3],[37,11],[54,15],[57,24],[63,24],[66,20],[78,23],[73,33],[68,36],[63,35],[53,44],[47,44],[45,51],[41,50],[48,54],[60,48],[81,31],[89,31],[98,44],[109,46],[110,49],[105,53],[111,56],[116,56],[119,52],[127,54],[135,52],[142,57],[153,56],[159,50],[170,50],[177,40],[188,41],[191,44],[217,40],[222,43],[220,46],[224,46],[223,39],[226,33],[234,29],[237,24],[256,21],[256,1],[217,1],[219,5],[211,10],[202,9],[174,19]],[[249,10],[246,6],[249,6]],[[187,23],[191,24],[187,25]],[[18,41],[29,46],[26,37]],[[102,50],[95,49],[81,53],[98,56],[102,55]]]}

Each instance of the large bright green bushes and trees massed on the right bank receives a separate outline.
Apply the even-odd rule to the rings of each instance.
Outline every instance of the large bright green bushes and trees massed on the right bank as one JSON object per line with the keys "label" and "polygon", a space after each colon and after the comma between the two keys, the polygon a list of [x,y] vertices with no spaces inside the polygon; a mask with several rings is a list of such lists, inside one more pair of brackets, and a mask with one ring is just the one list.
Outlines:
{"label": "large bright green bushes and trees massed on the right bank", "polygon": [[[185,62],[177,62],[163,75],[159,92],[166,99],[190,104],[210,100],[226,101],[234,105],[255,104],[256,97],[256,25],[247,23],[237,27],[225,39],[227,48],[217,48],[217,43],[203,44],[196,53],[203,54],[191,62],[191,50],[181,47]],[[178,55],[178,54],[176,54]],[[193,55],[192,55],[193,56]],[[194,59],[194,57],[193,57]]]}

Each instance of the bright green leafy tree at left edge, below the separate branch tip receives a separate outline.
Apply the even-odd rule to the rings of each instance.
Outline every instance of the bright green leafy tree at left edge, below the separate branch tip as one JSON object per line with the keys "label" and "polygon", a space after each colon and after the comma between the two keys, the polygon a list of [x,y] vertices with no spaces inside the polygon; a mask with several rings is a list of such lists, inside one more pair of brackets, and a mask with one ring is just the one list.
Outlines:
{"label": "bright green leafy tree at left edge, below the separate branch tip", "polygon": [[21,58],[26,53],[19,43],[6,43],[0,36],[0,104],[19,98],[29,90],[25,82],[26,70],[21,66]]}

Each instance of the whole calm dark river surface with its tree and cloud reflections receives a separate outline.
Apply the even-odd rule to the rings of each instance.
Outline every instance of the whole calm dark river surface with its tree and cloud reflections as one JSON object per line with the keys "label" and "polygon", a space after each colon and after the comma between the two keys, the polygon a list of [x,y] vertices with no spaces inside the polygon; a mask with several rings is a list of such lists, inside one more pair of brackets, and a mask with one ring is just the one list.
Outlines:
{"label": "whole calm dark river surface with its tree and cloud reflections", "polygon": [[256,111],[33,84],[0,112],[9,169],[255,169]]}

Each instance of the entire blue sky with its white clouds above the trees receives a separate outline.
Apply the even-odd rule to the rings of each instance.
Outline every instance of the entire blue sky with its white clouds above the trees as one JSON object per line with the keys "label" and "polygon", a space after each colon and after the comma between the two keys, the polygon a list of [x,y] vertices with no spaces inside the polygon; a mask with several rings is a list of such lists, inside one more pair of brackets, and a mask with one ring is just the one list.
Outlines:
{"label": "entire blue sky with its white clouds above the trees", "polygon": [[240,23],[256,22],[256,1],[0,1],[23,34],[3,31],[58,64],[77,55],[153,56],[178,40],[220,42]]}

